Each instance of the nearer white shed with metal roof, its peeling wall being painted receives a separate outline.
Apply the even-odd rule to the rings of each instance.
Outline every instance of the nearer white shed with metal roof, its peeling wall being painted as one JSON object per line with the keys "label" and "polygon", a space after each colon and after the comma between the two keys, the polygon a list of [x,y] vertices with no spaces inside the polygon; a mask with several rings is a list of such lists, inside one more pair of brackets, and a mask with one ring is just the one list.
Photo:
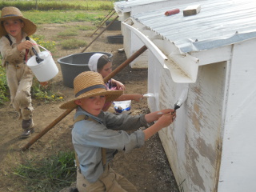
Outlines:
{"label": "nearer white shed with metal roof, its peeling wall being painted", "polygon": [[170,6],[123,22],[148,47],[148,104],[173,108],[188,90],[159,132],[180,191],[256,191],[256,1],[196,4],[193,16]]}

